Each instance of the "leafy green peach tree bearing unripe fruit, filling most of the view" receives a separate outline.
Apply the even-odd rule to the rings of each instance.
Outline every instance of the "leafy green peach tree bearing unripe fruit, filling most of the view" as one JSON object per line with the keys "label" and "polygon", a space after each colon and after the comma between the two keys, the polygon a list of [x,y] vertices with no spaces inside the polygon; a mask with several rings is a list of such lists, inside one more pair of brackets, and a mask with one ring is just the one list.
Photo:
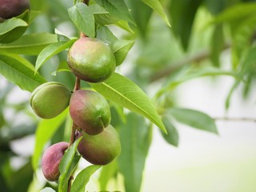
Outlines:
{"label": "leafy green peach tree bearing unripe fruit, filling most of the view", "polygon": [[[0,74],[8,80],[0,108],[13,85],[31,93],[30,102],[11,106],[26,114],[30,126],[15,132],[0,114],[0,127],[10,127],[7,136],[0,134],[0,168],[11,173],[0,174],[3,191],[27,191],[38,174],[46,180],[37,190],[85,191],[98,170],[100,190],[122,174],[126,191],[140,191],[154,126],[172,146],[178,146],[177,123],[218,134],[214,118],[176,105],[177,86],[230,76],[235,81],[226,109],[238,85],[244,83],[248,94],[255,74],[255,10],[247,1],[0,0]],[[210,16],[201,21],[197,14]],[[207,42],[193,32],[202,22]],[[208,50],[199,51],[202,46]],[[223,70],[219,60],[226,49],[232,70]],[[198,65],[204,61],[210,66]],[[28,134],[35,135],[34,153],[15,173],[5,151]],[[90,166],[79,168],[82,161]]]}

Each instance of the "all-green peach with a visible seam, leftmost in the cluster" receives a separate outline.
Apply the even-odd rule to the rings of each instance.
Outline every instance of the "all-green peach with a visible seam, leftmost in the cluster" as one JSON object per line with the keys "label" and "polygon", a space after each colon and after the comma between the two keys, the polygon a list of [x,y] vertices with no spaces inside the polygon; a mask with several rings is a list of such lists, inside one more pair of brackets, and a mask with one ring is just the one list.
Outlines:
{"label": "all-green peach with a visible seam, leftmost in the cluster", "polygon": [[40,118],[54,118],[69,106],[70,90],[59,82],[38,86],[30,98],[30,106]]}

